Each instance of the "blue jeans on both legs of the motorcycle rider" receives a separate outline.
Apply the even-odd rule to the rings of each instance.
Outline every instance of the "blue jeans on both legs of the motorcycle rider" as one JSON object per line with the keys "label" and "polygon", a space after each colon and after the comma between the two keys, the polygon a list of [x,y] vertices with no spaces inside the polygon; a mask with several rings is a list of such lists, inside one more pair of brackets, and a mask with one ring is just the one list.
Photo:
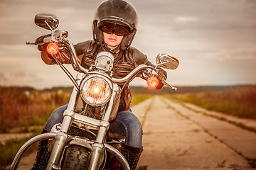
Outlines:
{"label": "blue jeans on both legs of the motorcycle rider", "polygon": [[[46,123],[46,130],[50,131],[53,125],[63,122],[63,113],[67,107],[68,105],[64,105],[53,111]],[[110,123],[110,129],[112,132],[125,136],[125,145],[142,148],[142,124],[130,108],[117,113],[116,120]]]}

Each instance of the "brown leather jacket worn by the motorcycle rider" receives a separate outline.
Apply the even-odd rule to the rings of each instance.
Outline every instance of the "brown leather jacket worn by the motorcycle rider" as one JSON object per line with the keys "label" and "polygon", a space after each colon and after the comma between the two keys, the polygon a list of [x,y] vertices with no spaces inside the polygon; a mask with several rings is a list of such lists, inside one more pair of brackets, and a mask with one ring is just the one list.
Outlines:
{"label": "brown leather jacket worn by the motorcycle rider", "polygon": [[[75,50],[78,56],[78,61],[80,62],[82,67],[85,67],[86,69],[88,69],[91,64],[95,63],[96,56],[99,52],[112,52],[112,55],[114,55],[113,76],[115,78],[125,77],[127,74],[129,74],[129,72],[132,72],[132,70],[139,64],[153,66],[153,64],[151,64],[151,62],[149,62],[149,60],[147,59],[146,55],[144,55],[142,52],[134,47],[129,47],[128,50],[119,50],[119,47],[117,47],[117,49],[115,50],[110,50],[104,44],[96,45],[95,41],[88,40],[76,44]],[[46,52],[41,52],[41,57],[42,60],[46,62],[46,64],[55,64],[53,58],[48,56]],[[62,62],[63,64],[69,64],[70,60],[68,57],[68,52],[63,50],[58,60],[60,60],[60,62]],[[127,110],[131,101],[132,96],[129,91],[129,87],[126,86],[124,88],[124,92],[121,95],[119,111]]]}

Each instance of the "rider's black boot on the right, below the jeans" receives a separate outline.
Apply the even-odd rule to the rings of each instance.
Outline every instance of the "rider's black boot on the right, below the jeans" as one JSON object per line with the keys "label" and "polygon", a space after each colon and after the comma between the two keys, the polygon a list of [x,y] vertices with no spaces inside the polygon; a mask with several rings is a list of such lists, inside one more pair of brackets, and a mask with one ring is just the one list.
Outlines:
{"label": "rider's black boot on the right, below the jeans", "polygon": [[[140,149],[138,147],[131,147],[129,145],[124,145],[122,149],[122,154],[124,155],[125,159],[127,159],[127,162],[130,166],[131,170],[135,170],[136,166],[139,162],[139,157],[142,154],[143,149]],[[121,167],[123,169],[123,167]]]}

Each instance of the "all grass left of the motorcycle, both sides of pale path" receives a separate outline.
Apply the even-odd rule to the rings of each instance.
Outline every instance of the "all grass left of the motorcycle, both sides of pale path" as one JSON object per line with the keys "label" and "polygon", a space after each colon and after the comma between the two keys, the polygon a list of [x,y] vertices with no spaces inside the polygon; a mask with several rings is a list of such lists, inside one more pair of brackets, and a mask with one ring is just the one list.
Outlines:
{"label": "all grass left of the motorcycle, both sides of pale path", "polygon": [[[38,135],[41,128],[33,127],[45,125],[50,113],[68,103],[69,97],[70,94],[65,92],[24,92],[0,87],[0,133],[29,131],[34,132],[31,137]],[[18,149],[31,137],[0,143],[0,169],[11,163]]]}

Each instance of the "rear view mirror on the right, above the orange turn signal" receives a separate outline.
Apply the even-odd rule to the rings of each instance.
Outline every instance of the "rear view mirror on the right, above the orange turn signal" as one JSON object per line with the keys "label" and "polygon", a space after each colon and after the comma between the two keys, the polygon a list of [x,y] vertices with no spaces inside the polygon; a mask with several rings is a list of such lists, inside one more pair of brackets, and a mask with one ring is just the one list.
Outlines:
{"label": "rear view mirror on the right, above the orange turn signal", "polygon": [[176,69],[179,61],[166,52],[161,52],[156,57],[156,64],[164,69]]}

